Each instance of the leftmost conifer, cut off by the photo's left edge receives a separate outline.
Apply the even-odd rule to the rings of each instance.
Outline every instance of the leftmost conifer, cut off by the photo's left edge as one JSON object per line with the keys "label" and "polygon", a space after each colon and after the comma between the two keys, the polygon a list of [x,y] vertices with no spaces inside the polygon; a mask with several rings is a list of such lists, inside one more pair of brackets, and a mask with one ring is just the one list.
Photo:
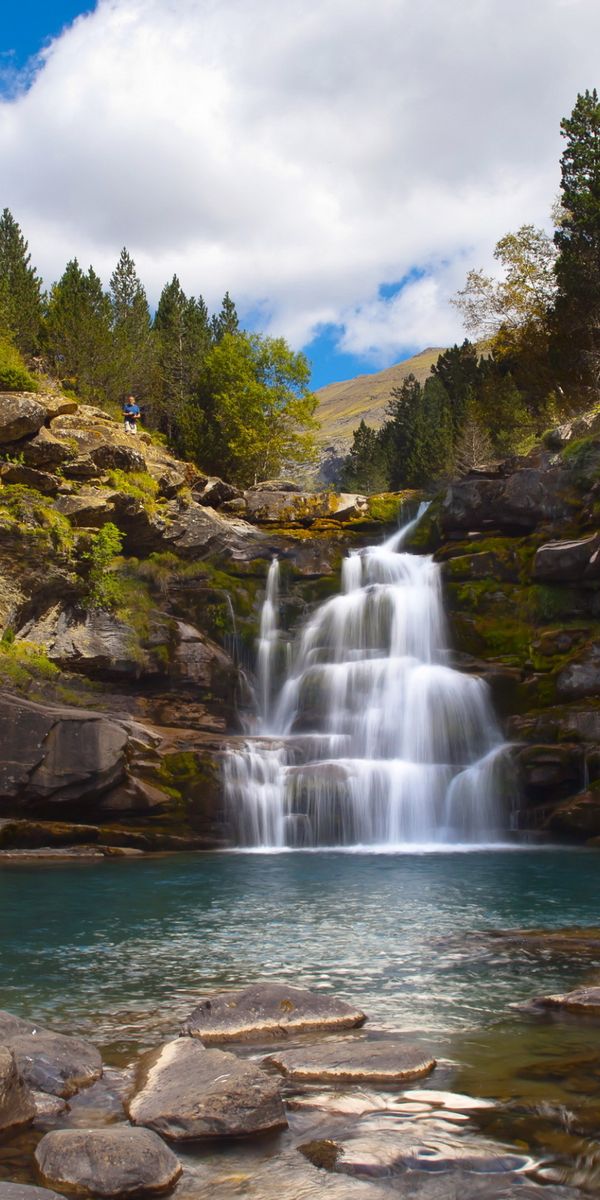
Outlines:
{"label": "leftmost conifer, cut off by the photo's left edge", "polygon": [[0,217],[0,332],[31,354],[40,342],[41,280],[28,244],[8,209]]}

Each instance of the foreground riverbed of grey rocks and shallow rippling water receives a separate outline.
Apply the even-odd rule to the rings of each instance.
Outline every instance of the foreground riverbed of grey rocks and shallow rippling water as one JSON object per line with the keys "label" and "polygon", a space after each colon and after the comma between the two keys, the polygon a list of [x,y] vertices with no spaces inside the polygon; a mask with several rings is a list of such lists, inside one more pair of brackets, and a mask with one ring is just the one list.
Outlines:
{"label": "foreground riverbed of grey rocks and shallow rippling water", "polygon": [[[598,1007],[592,1018],[594,1040]],[[596,1194],[593,1109],[500,1097],[493,1075],[484,1094],[450,1086],[469,1070],[289,984],[208,995],[179,1037],[119,1068],[1,1013],[0,1200]]]}

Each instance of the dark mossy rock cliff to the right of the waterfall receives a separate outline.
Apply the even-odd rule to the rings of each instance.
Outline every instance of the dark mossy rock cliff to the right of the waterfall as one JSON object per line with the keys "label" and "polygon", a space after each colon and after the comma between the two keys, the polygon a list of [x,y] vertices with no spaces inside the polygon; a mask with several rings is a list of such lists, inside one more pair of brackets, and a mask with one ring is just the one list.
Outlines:
{"label": "dark mossy rock cliff to the right of the waterfall", "polygon": [[410,548],[443,564],[455,665],[491,684],[518,824],[600,840],[600,419],[437,498]]}

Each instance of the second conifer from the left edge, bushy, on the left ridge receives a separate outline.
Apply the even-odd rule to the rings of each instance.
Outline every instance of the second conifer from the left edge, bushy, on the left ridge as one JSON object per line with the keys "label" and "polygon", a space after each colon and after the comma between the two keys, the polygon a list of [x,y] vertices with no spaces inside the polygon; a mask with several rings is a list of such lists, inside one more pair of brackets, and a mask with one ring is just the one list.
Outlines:
{"label": "second conifer from the left edge, bushy, on the left ridge", "polygon": [[56,373],[85,400],[106,401],[114,388],[110,300],[90,266],[77,258],[50,290],[46,337]]}

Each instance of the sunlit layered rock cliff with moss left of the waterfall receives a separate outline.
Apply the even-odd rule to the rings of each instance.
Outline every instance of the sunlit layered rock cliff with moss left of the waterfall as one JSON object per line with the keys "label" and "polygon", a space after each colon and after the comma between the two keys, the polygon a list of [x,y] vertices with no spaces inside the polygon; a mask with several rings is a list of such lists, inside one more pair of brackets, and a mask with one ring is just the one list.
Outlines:
{"label": "sunlit layered rock cliff with moss left of the waterfall", "polygon": [[270,559],[294,625],[400,500],[242,493],[98,409],[0,395],[0,850],[227,845]]}

